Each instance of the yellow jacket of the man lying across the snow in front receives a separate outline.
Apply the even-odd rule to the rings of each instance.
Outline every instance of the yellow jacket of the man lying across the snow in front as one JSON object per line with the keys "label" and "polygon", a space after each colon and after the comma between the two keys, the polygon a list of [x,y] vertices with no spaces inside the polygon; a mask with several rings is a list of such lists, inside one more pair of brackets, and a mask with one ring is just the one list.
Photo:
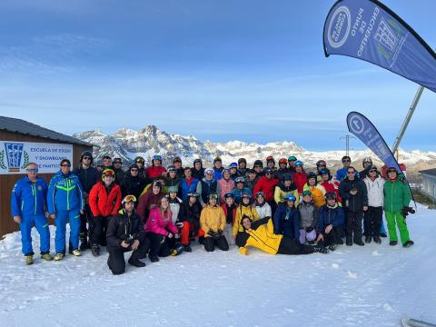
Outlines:
{"label": "yellow jacket of the man lying across the snow in front", "polygon": [[255,229],[245,231],[245,233],[248,233],[250,236],[245,245],[239,248],[240,253],[247,254],[247,246],[254,246],[270,254],[276,254],[279,251],[283,235],[274,234],[271,218],[268,220],[268,223],[263,223],[257,228],[255,227]]}

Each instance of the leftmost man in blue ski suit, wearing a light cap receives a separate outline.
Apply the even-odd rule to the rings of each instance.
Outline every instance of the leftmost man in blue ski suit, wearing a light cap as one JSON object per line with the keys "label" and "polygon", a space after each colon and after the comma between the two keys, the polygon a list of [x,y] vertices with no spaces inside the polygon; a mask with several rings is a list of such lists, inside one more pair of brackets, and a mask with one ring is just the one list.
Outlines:
{"label": "leftmost man in blue ski suit, wearing a light cap", "polygon": [[38,177],[38,165],[27,163],[27,176],[15,183],[11,194],[11,213],[15,223],[20,224],[22,252],[25,263],[34,263],[32,248],[32,227],[35,224],[40,237],[41,258],[50,261],[50,230],[46,218],[47,183]]}

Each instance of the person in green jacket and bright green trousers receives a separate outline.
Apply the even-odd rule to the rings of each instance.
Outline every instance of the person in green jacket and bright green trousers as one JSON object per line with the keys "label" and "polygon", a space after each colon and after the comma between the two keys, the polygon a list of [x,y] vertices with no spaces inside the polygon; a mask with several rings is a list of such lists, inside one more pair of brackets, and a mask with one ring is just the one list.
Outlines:
{"label": "person in green jacket and bright green trousers", "polygon": [[400,231],[400,238],[403,247],[413,245],[407,230],[404,219],[404,211],[411,203],[411,192],[406,183],[398,179],[398,172],[395,167],[388,168],[388,178],[383,186],[384,192],[384,213],[388,221],[388,232],[390,245],[397,245],[398,236],[396,224]]}

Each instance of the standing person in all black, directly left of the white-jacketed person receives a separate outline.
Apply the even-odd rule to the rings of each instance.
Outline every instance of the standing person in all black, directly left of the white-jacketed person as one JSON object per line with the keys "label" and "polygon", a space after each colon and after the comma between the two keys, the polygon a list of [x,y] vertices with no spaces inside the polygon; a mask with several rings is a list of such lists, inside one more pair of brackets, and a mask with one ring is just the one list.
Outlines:
{"label": "standing person in all black, directly left of the white-jacketed person", "polygon": [[362,246],[362,219],[363,212],[368,210],[368,192],[352,166],[347,168],[347,177],[339,185],[339,193],[346,216],[346,244],[351,246],[354,242]]}

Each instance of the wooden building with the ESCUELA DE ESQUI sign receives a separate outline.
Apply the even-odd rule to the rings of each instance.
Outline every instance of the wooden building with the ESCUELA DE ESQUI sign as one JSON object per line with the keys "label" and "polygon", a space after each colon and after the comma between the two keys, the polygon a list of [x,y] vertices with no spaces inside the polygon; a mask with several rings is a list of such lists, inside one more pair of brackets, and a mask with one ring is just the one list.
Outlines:
{"label": "wooden building with the ESCUELA DE ESQUI sign", "polygon": [[[5,233],[19,230],[19,225],[11,216],[11,192],[15,182],[25,176],[26,163],[41,164],[42,162],[37,160],[41,158],[45,167],[40,165],[38,175],[49,183],[54,173],[59,170],[59,158],[72,159],[74,167],[79,163],[80,155],[85,150],[93,151],[92,144],[72,136],[54,132],[22,119],[4,116],[0,116],[0,146],[0,237]],[[62,150],[63,148],[66,150]],[[45,153],[38,156],[36,155],[39,154],[38,151]],[[50,151],[55,154],[50,154]],[[69,152],[69,154],[65,155],[61,152]]]}

